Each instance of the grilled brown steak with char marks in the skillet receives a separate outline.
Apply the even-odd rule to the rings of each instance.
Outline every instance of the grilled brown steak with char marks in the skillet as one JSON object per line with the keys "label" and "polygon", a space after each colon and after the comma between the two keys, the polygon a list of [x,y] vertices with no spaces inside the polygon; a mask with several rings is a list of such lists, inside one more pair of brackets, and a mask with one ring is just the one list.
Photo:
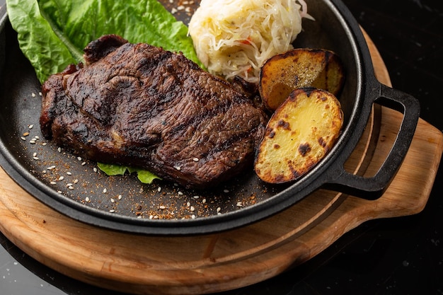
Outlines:
{"label": "grilled brown steak with char marks in the skillet", "polygon": [[238,88],[183,54],[116,35],[84,52],[84,65],[42,86],[47,139],[186,187],[217,185],[252,163],[266,119]]}

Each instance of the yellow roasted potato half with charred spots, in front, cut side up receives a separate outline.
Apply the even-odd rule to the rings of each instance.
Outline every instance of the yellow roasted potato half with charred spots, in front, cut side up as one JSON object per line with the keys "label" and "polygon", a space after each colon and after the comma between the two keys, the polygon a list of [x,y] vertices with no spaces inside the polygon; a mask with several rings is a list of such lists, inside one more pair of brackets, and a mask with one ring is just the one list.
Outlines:
{"label": "yellow roasted potato half with charred spots, in front, cut side up", "polygon": [[254,170],[266,183],[287,183],[330,151],[343,126],[340,102],[318,88],[297,88],[267,123]]}

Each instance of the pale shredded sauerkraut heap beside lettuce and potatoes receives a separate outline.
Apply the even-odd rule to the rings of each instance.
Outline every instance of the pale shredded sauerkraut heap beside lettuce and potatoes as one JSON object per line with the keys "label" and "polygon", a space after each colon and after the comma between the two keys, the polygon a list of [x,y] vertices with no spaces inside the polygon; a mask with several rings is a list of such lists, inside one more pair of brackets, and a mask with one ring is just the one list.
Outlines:
{"label": "pale shredded sauerkraut heap beside lettuce and potatoes", "polygon": [[292,50],[304,16],[303,0],[202,0],[189,34],[209,73],[255,83],[267,59]]}

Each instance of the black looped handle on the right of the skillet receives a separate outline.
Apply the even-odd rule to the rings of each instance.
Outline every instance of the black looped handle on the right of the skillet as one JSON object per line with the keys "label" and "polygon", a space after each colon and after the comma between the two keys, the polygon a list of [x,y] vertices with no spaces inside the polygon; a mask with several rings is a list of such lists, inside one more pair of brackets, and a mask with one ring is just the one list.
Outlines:
{"label": "black looped handle on the right of the skillet", "polygon": [[403,159],[408,152],[413,139],[415,127],[417,127],[420,116],[420,105],[418,100],[406,93],[389,88],[380,84],[380,96],[374,102],[384,105],[393,110],[403,113],[400,130],[391,151],[376,174],[370,178],[348,173],[343,166],[343,173],[338,173],[338,178],[329,182],[335,189],[338,185],[340,192],[345,192],[363,199],[377,199],[381,197],[391,180],[400,168]]}

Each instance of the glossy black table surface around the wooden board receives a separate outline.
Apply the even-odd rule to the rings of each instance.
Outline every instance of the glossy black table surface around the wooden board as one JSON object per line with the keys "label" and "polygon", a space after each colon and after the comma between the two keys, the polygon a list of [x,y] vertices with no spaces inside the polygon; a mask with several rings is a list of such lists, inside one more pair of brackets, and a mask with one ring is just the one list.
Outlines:
{"label": "glossy black table surface around the wooden board", "polygon": [[[420,117],[442,131],[443,0],[343,1],[379,49],[393,88],[418,98]],[[1,233],[0,244],[1,295],[122,295],[45,267]],[[442,165],[420,214],[367,221],[303,265],[220,295],[246,294],[443,294]]]}

